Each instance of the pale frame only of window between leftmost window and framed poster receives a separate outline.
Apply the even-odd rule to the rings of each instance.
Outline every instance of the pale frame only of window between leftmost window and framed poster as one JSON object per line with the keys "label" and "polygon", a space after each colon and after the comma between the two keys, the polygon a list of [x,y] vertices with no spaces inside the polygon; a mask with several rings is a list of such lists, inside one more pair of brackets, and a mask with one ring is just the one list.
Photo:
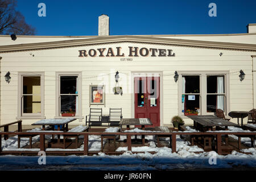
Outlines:
{"label": "pale frame only of window between leftmost window and framed poster", "polygon": [[[67,118],[61,115],[60,109],[60,96],[67,94],[60,94],[60,77],[61,76],[77,76],[77,92],[79,101],[78,108],[76,110],[76,115],[72,118],[82,119],[82,72],[56,72],[56,100],[55,100],[55,117],[54,118]],[[68,95],[76,95],[76,94],[68,94]],[[77,114],[78,111],[78,114]]]}

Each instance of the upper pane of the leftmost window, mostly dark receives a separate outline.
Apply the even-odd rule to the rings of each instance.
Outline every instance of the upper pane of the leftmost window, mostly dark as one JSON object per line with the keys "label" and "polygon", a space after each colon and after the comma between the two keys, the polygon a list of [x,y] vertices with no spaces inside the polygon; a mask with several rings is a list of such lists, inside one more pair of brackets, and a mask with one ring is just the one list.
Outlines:
{"label": "upper pane of the leftmost window, mostly dark", "polygon": [[23,76],[23,94],[41,94],[40,76]]}

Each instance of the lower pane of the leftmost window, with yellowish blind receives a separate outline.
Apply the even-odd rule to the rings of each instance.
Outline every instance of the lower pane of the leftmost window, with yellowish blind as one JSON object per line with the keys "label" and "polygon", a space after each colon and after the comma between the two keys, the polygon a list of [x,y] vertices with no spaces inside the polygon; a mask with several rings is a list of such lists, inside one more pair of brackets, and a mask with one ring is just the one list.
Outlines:
{"label": "lower pane of the leftmost window, with yellowish blind", "polygon": [[41,96],[23,96],[23,113],[41,113]]}

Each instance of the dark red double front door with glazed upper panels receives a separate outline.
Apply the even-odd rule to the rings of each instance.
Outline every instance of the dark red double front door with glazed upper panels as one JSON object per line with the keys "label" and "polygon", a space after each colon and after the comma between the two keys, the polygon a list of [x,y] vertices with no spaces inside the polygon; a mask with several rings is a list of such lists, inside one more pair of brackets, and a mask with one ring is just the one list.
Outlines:
{"label": "dark red double front door with glazed upper panels", "polygon": [[135,118],[150,118],[153,127],[160,126],[159,81],[160,77],[134,77]]}

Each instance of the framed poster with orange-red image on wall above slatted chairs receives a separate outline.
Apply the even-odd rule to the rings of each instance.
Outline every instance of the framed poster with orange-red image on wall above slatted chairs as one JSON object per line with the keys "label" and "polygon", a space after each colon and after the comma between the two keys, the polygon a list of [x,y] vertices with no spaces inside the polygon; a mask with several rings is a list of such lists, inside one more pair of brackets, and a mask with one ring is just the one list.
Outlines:
{"label": "framed poster with orange-red image on wall above slatted chairs", "polygon": [[104,85],[90,85],[90,105],[105,105]]}

